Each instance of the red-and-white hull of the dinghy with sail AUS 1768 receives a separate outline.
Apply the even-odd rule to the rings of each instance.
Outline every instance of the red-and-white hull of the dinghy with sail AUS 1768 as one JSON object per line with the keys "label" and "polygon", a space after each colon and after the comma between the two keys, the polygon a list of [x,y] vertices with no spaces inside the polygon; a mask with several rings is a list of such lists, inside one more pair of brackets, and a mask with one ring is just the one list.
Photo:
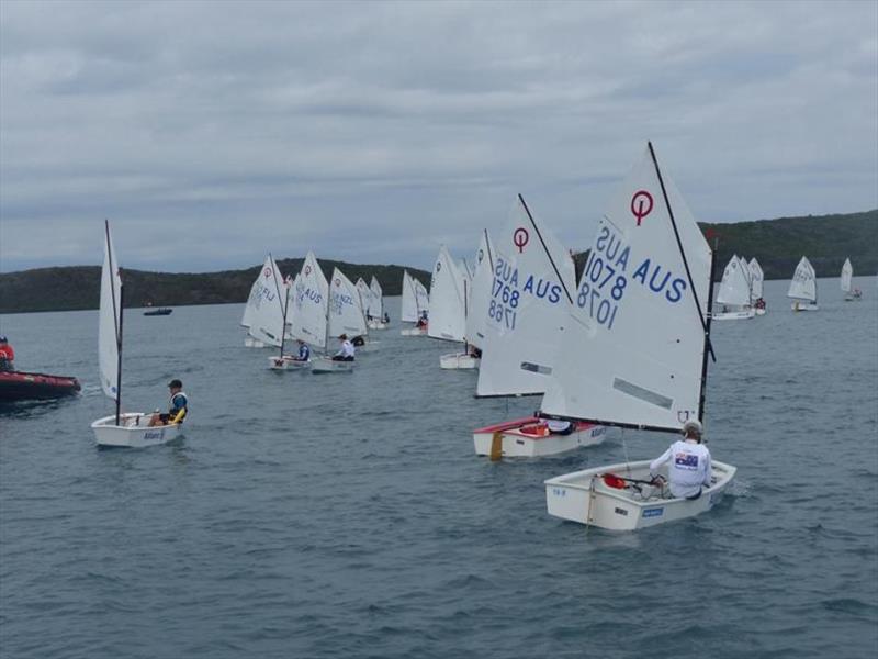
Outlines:
{"label": "red-and-white hull of the dinghy with sail AUS 1768", "polygon": [[588,423],[570,435],[548,433],[534,417],[519,418],[473,431],[475,455],[499,458],[538,458],[553,456],[604,442],[607,428]]}

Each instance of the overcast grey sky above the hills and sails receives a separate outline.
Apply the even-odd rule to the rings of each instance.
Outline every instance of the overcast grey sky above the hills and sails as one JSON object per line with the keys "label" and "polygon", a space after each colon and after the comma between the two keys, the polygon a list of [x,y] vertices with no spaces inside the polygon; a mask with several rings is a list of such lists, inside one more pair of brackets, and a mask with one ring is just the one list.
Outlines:
{"label": "overcast grey sky above the hills and sails", "polygon": [[878,206],[878,3],[0,2],[0,271],[570,247],[652,139],[699,220]]}

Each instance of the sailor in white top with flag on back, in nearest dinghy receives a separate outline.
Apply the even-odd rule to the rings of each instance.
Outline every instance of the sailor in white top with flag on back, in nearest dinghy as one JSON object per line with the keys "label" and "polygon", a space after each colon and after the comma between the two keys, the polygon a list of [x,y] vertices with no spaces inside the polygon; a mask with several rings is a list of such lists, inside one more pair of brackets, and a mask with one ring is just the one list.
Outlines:
{"label": "sailor in white top with flag on back, in nearest dinghy", "polygon": [[671,447],[650,462],[650,478],[654,485],[663,485],[664,479],[658,476],[658,468],[671,462],[667,468],[671,481],[671,495],[675,499],[698,499],[701,487],[710,485],[710,451],[701,444],[703,428],[701,422],[690,418],[683,424],[683,439],[677,439]]}

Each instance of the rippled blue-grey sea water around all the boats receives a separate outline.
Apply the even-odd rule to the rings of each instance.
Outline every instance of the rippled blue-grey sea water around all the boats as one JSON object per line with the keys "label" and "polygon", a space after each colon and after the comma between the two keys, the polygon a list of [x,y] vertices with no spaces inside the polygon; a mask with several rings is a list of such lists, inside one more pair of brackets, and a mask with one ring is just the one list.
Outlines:
{"label": "rippled blue-grey sea water around all the boats", "polygon": [[[126,315],[125,407],[183,380],[177,445],[98,450],[97,312],[8,315],[21,369],[81,396],[0,412],[0,656],[874,657],[878,290],[718,323],[713,512],[637,534],[545,514],[542,481],[672,437],[491,463],[471,431],[538,399],[472,398],[449,347],[376,332],[349,376],[274,373],[243,306]],[[398,299],[391,300],[398,317]],[[644,327],[644,332],[648,331]]]}

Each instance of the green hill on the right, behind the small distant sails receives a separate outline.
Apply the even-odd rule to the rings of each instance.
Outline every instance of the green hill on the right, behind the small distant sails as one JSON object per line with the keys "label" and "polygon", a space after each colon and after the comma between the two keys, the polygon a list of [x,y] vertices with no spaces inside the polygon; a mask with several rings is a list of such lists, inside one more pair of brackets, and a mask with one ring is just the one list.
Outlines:
{"label": "green hill on the right, behind the small distant sails", "polygon": [[[766,279],[789,279],[802,256],[814,266],[818,277],[838,277],[849,258],[854,276],[878,272],[878,210],[844,215],[779,217],[734,224],[699,226],[711,246],[719,239],[716,279],[733,254],[747,260],[756,257]],[[577,254],[576,276],[585,267],[588,252]]]}

